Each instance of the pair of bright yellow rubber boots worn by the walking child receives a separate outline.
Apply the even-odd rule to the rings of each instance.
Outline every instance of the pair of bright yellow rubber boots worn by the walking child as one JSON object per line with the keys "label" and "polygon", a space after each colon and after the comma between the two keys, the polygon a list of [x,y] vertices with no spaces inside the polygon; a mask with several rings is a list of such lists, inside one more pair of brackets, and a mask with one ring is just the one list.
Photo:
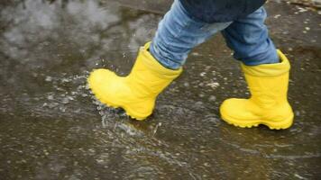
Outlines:
{"label": "pair of bright yellow rubber boots worn by the walking child", "polygon": [[[151,56],[150,43],[140,49],[128,76],[96,69],[88,77],[96,98],[107,106],[121,107],[133,119],[142,121],[154,108],[157,95],[182,72],[171,70]],[[220,107],[222,119],[242,128],[264,124],[270,129],[287,129],[293,121],[288,103],[289,60],[278,50],[280,63],[245,66],[242,69],[251,91],[250,99],[227,99]]]}

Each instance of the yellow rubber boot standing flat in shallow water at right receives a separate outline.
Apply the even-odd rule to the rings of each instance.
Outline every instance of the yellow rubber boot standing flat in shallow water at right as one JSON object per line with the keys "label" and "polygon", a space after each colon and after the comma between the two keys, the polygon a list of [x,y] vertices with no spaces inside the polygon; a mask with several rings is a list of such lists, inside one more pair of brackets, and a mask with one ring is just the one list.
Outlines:
{"label": "yellow rubber boot standing flat in shallow water at right", "polygon": [[242,128],[264,124],[270,129],[287,129],[293,122],[288,103],[289,60],[278,50],[280,63],[245,66],[242,69],[248,83],[250,99],[227,99],[222,103],[222,119]]}

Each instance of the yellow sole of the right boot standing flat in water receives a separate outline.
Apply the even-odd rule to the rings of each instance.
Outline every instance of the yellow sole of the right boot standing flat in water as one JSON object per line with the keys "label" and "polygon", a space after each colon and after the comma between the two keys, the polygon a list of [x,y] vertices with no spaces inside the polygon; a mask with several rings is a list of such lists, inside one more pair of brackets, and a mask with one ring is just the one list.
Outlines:
{"label": "yellow sole of the right boot standing flat in water", "polygon": [[221,112],[221,118],[227,123],[234,125],[240,128],[252,128],[258,127],[260,124],[268,126],[270,130],[285,130],[288,129],[293,123],[293,114],[289,116],[289,118],[282,121],[245,121],[245,120],[237,120],[231,116],[226,115],[225,112]]}

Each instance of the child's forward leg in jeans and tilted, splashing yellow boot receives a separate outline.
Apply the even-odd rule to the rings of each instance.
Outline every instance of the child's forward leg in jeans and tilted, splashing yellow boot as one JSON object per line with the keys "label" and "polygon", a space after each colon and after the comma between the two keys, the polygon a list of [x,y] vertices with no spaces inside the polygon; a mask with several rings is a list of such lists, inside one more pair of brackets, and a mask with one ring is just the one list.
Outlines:
{"label": "child's forward leg in jeans and tilted, splashing yellow boot", "polygon": [[144,120],[151,114],[157,95],[181,73],[188,52],[228,24],[194,21],[177,0],[152,43],[140,49],[128,76],[97,69],[87,79],[89,87],[102,103],[122,107],[131,117]]}

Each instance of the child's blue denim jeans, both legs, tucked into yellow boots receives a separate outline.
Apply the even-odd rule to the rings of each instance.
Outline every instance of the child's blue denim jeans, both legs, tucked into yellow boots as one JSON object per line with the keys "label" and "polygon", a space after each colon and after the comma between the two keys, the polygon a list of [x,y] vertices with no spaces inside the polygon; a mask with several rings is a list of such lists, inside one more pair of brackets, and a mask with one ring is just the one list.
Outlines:
{"label": "child's blue denim jeans, both legs, tucked into yellow boots", "polygon": [[247,66],[278,63],[279,57],[264,25],[263,7],[243,19],[227,23],[205,23],[191,19],[178,0],[159,23],[150,51],[161,65],[170,69],[183,66],[188,53],[222,31],[234,58]]}

